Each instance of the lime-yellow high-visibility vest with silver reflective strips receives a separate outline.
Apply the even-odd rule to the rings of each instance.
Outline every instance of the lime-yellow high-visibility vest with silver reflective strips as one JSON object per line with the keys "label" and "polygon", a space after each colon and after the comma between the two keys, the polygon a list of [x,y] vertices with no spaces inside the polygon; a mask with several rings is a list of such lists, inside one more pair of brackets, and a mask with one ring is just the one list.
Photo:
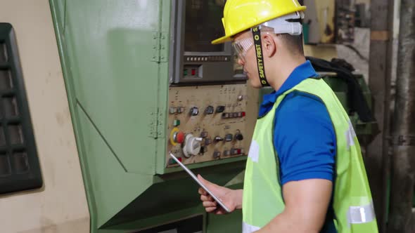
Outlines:
{"label": "lime-yellow high-visibility vest with silver reflective strips", "polygon": [[336,132],[336,182],[333,208],[334,223],[338,232],[378,232],[362,152],[349,116],[324,80],[310,78],[280,95],[272,110],[257,119],[245,169],[243,233],[255,232],[264,227],[285,208],[273,131],[276,109],[281,100],[292,91],[315,95],[324,102]]}

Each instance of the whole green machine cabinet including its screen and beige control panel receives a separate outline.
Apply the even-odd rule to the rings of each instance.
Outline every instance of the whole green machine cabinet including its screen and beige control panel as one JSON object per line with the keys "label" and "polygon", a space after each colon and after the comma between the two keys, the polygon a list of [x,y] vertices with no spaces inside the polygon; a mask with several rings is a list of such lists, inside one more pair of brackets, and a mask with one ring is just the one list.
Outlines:
{"label": "whole green machine cabinet including its screen and beige control panel", "polygon": [[231,44],[210,44],[224,34],[224,3],[51,0],[91,232],[180,229],[192,218],[200,231],[241,232],[241,212],[206,214],[198,185],[168,157],[242,185],[257,98]]}

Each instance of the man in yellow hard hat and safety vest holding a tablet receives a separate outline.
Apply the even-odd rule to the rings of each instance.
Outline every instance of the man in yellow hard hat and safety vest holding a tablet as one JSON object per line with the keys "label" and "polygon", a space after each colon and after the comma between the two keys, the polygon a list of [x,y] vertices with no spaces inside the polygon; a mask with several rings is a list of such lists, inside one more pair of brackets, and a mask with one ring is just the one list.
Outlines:
{"label": "man in yellow hard hat and safety vest holding a tablet", "polygon": [[[228,0],[222,19],[260,107],[243,190],[199,179],[234,211],[243,232],[378,232],[350,119],[302,51],[297,0]],[[224,213],[204,189],[206,211]]]}

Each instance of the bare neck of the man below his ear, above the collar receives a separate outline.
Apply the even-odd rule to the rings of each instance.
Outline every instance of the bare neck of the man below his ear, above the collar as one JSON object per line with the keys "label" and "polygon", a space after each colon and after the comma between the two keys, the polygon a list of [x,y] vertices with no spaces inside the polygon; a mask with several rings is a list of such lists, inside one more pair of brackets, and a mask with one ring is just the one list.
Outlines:
{"label": "bare neck of the man below his ear, above the collar", "polygon": [[286,54],[281,55],[278,58],[273,58],[269,66],[270,72],[269,85],[274,88],[275,91],[278,91],[283,83],[288,79],[288,76],[293,72],[293,70],[305,62],[304,55],[292,55]]}

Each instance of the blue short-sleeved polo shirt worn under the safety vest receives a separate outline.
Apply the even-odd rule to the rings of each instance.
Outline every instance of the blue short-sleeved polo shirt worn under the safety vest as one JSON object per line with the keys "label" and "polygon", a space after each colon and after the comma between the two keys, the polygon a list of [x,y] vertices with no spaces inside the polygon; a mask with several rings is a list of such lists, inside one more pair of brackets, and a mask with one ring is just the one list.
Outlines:
{"label": "blue short-sleeved polo shirt worn under the safety vest", "polygon": [[[316,76],[318,74],[308,60],[295,68],[278,91],[264,95],[260,117],[272,109],[279,95]],[[274,121],[274,149],[280,164],[281,185],[307,179],[333,182],[336,133],[324,103],[314,95],[293,91],[281,101]],[[337,232],[331,204],[321,232]]]}

